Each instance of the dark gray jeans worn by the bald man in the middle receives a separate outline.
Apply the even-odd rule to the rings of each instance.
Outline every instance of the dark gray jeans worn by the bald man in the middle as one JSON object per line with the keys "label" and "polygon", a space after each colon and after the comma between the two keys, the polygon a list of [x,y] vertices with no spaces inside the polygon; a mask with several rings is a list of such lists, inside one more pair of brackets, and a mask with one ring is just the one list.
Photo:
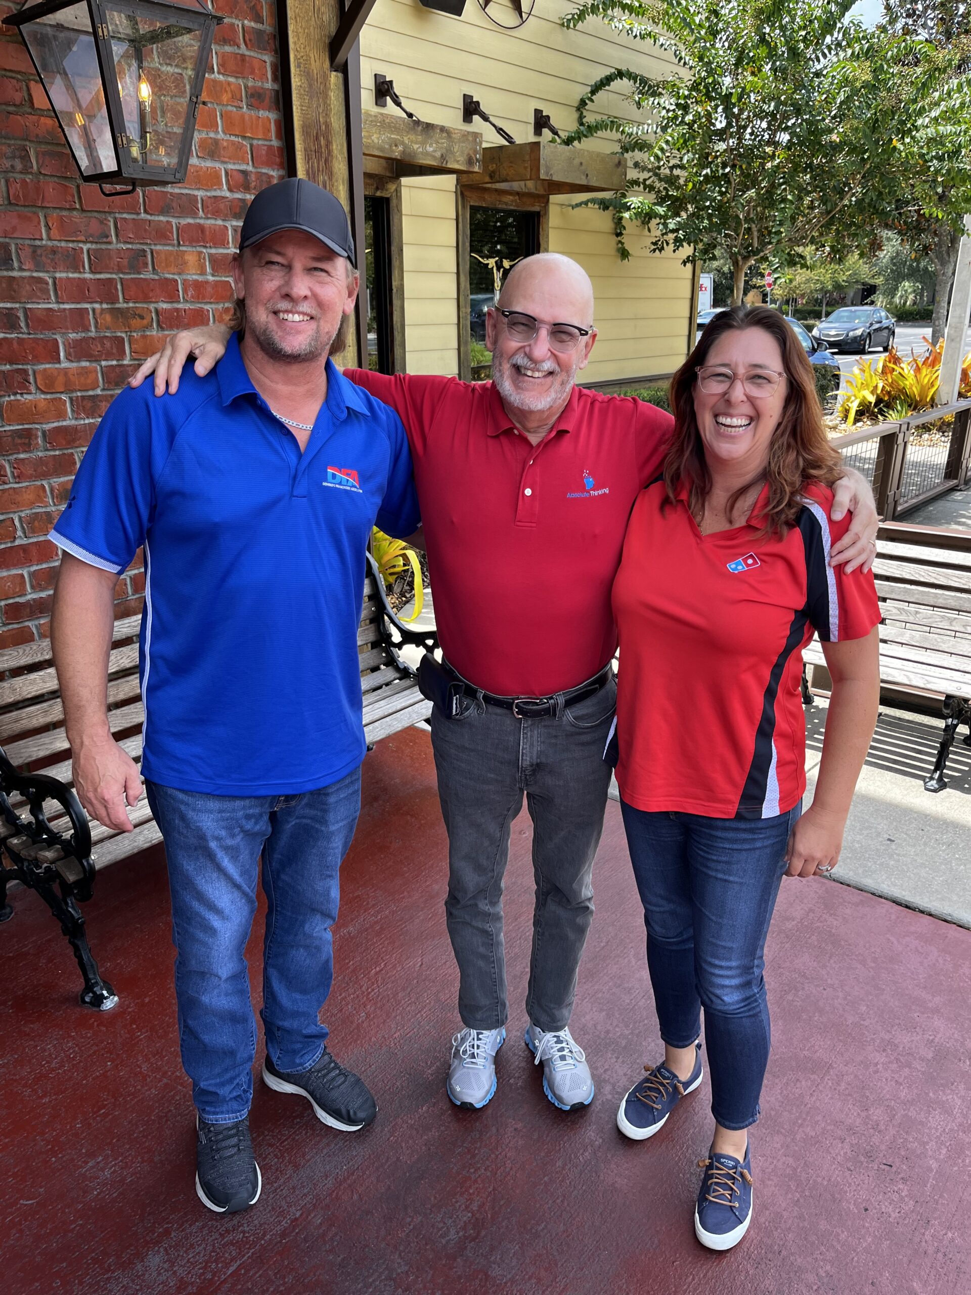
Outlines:
{"label": "dark gray jeans worn by the bald man in the middle", "polygon": [[497,1030],[509,1017],[502,878],[523,794],[536,878],[526,1010],[540,1030],[570,1022],[593,917],[590,869],[610,786],[603,746],[615,706],[611,680],[557,717],[519,720],[469,698],[460,719],[432,711],[448,830],[445,917],[460,973],[458,1011],[470,1030]]}

